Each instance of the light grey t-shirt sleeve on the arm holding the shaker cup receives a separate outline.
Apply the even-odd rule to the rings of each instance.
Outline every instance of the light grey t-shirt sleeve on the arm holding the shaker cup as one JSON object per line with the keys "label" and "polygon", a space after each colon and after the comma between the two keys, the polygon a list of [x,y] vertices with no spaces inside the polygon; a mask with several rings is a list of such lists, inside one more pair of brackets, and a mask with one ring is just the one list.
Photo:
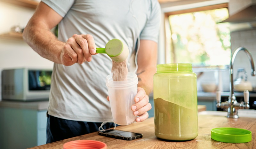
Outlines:
{"label": "light grey t-shirt sleeve on the arm holding the shaker cup", "polygon": [[161,8],[157,0],[152,0],[150,17],[143,28],[140,39],[152,40],[158,43],[160,30]]}

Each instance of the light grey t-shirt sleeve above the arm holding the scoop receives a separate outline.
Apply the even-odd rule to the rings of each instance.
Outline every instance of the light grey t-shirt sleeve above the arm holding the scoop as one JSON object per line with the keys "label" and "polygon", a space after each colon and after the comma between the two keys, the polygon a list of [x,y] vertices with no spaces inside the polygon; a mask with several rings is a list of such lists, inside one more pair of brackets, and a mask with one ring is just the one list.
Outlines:
{"label": "light grey t-shirt sleeve above the arm holding the scoop", "polygon": [[62,17],[68,13],[75,1],[76,0],[42,0],[44,4],[47,4]]}

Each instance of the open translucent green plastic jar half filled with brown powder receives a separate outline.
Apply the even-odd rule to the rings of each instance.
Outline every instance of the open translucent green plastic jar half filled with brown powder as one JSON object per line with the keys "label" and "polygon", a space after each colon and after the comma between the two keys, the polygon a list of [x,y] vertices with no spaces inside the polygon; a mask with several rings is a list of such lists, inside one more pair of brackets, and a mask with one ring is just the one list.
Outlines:
{"label": "open translucent green plastic jar half filled with brown powder", "polygon": [[167,140],[198,136],[196,74],[192,64],[160,64],[154,74],[155,135]]}

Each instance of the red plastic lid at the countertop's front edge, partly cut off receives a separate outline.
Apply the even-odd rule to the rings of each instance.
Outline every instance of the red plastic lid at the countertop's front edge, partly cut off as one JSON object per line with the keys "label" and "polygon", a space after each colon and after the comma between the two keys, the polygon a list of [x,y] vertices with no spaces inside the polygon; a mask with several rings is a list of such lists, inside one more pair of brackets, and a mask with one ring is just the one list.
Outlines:
{"label": "red plastic lid at the countertop's front edge, partly cut off", "polygon": [[76,140],[63,145],[64,149],[107,149],[107,145],[95,140]]}

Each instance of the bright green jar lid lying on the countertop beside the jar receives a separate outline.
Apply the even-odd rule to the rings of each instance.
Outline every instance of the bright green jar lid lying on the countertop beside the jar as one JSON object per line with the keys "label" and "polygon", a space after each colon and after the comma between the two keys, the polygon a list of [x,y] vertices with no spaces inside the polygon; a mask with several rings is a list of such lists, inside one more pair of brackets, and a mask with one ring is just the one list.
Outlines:
{"label": "bright green jar lid lying on the countertop beside the jar", "polygon": [[213,128],[211,129],[213,140],[226,143],[246,143],[252,141],[252,132],[240,128]]}

